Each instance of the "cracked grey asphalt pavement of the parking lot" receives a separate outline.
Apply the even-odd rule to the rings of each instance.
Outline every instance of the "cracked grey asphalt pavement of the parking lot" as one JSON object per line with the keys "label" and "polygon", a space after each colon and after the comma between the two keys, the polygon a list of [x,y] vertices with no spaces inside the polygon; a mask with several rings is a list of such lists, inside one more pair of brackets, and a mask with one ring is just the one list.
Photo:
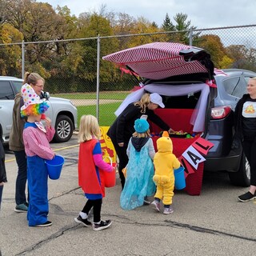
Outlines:
{"label": "cracked grey asphalt pavement of the parking lot", "polygon": [[237,201],[247,189],[231,186],[226,173],[204,174],[200,196],[175,191],[174,214],[169,215],[155,213],[150,206],[122,210],[117,179],[114,188],[106,189],[102,205],[102,219],[110,218],[113,224],[96,232],[74,222],[86,202],[78,187],[76,135],[51,146],[66,162],[61,178],[49,180],[53,225],[44,228],[27,226],[26,214],[14,212],[17,166],[14,154],[6,150],[2,255],[254,255],[256,204]]}

